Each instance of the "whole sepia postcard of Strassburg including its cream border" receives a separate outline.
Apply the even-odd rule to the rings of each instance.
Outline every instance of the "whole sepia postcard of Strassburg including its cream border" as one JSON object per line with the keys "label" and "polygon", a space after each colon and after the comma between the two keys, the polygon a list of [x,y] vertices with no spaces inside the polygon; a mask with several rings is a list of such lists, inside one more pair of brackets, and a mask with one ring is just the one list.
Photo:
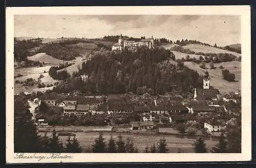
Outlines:
{"label": "whole sepia postcard of Strassburg including its cream border", "polygon": [[250,159],[249,7],[61,8],[8,9],[10,160]]}

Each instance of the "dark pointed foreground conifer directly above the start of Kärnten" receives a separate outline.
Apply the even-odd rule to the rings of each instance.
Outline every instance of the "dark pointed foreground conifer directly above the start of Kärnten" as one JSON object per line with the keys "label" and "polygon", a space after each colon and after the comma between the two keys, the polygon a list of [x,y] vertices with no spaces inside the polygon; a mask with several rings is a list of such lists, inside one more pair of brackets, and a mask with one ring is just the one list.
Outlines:
{"label": "dark pointed foreground conifer directly above the start of K\u00e4rnten", "polygon": [[59,136],[55,129],[53,129],[52,137],[50,138],[49,148],[50,148],[50,151],[53,153],[63,152],[62,143],[59,140]]}

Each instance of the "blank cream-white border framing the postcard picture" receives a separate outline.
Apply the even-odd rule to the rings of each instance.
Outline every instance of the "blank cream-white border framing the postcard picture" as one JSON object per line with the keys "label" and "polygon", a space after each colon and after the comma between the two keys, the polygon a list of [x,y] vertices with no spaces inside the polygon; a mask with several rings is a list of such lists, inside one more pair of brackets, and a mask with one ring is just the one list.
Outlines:
{"label": "blank cream-white border framing the postcard picture", "polygon": [[[132,12],[131,12],[132,11]],[[240,15],[242,43],[242,153],[241,154],[68,154],[73,159],[15,159],[13,153],[14,15]],[[250,6],[149,6],[149,7],[12,7],[6,9],[6,161],[49,162],[173,162],[248,161],[251,159],[251,53]],[[37,154],[48,155],[48,154]],[[62,154],[65,155],[65,154]]]}

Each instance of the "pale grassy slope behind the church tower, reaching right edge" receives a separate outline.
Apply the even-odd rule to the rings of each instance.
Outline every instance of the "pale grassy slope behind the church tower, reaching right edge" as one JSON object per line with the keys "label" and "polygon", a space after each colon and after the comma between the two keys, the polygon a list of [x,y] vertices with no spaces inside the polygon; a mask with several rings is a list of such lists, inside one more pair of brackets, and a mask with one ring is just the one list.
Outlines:
{"label": "pale grassy slope behind the church tower, reaching right edge", "polygon": [[[194,62],[184,62],[184,65],[187,67],[197,70],[199,74],[204,74],[204,69],[200,68],[200,64],[196,64]],[[223,79],[222,77],[222,69],[220,69],[220,66],[223,66],[224,68],[229,69],[231,73],[236,75],[236,80],[238,82],[228,82]],[[237,68],[235,68],[236,66]],[[209,64],[206,64],[206,67],[209,68]],[[221,93],[228,93],[230,91],[241,89],[241,62],[239,61],[231,61],[231,62],[222,62],[222,63],[216,63],[215,67],[216,69],[207,69],[210,75],[210,85],[214,86],[215,88],[218,88]]]}

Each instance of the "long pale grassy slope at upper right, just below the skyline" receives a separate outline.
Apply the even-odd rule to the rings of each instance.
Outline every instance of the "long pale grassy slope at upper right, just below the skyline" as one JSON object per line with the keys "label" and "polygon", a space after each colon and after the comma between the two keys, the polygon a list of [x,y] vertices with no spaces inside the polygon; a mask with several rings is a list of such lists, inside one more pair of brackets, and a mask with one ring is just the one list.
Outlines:
{"label": "long pale grassy slope at upper right, just below the skyline", "polygon": [[183,48],[184,49],[189,49],[189,50],[194,51],[196,53],[197,52],[216,53],[216,54],[218,54],[218,53],[228,53],[228,54],[233,54],[235,56],[241,56],[241,54],[239,54],[239,53],[230,52],[230,51],[218,49],[216,47],[201,45],[201,44],[189,44],[189,45],[183,46]]}

